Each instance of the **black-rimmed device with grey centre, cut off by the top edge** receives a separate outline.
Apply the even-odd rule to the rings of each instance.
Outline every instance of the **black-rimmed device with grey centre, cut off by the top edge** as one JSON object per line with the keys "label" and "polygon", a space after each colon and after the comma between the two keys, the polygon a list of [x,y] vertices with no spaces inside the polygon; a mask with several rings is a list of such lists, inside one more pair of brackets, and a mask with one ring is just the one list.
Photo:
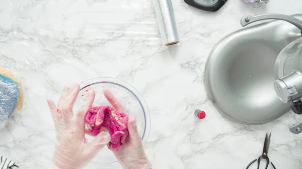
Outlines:
{"label": "black-rimmed device with grey centre, cut off by the top edge", "polygon": [[184,0],[189,6],[204,11],[218,11],[228,0]]}

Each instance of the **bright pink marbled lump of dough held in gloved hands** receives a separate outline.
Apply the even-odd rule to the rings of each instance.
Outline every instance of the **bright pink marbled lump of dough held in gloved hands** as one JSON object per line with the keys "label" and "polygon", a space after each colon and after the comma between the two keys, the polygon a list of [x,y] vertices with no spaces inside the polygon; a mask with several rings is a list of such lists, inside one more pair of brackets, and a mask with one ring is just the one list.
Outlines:
{"label": "bright pink marbled lump of dough held in gloved hands", "polygon": [[118,150],[129,136],[127,123],[128,116],[120,111],[115,111],[112,106],[92,107],[85,116],[85,122],[93,135],[107,131],[111,141],[107,144],[111,150]]}

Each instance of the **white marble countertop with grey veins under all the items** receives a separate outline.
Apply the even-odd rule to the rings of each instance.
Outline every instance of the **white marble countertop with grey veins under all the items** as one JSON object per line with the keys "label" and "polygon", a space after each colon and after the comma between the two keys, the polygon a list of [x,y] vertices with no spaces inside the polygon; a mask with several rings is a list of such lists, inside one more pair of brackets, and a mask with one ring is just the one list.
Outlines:
{"label": "white marble countertop with grey veins under all the items", "polygon": [[[245,168],[261,154],[267,131],[276,168],[302,168],[302,134],[288,130],[302,116],[288,113],[258,126],[234,123],[214,109],[203,86],[209,52],[241,29],[244,15],[301,13],[302,1],[252,8],[229,0],[215,13],[183,0],[173,5],[181,43],[167,48],[151,1],[0,1],[0,67],[20,77],[25,94],[23,109],[0,130],[0,155],[24,168],[43,168],[54,135],[46,99],[57,101],[64,85],[114,77],[134,86],[148,104],[152,127],[145,150],[154,168]],[[197,108],[205,119],[193,115]]]}

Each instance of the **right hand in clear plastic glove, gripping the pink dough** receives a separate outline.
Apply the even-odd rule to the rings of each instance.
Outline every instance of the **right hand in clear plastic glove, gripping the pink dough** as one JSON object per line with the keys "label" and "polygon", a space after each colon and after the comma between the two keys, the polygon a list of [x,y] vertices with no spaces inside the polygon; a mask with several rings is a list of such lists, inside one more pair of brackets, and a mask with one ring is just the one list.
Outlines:
{"label": "right hand in clear plastic glove, gripping the pink dough", "polygon": [[[115,110],[125,112],[122,104],[114,98],[109,90],[103,90],[103,93]],[[128,120],[128,131],[128,140],[119,148],[118,151],[113,151],[113,153],[124,169],[150,169],[151,163],[148,161],[143,150],[135,118],[130,118]]]}

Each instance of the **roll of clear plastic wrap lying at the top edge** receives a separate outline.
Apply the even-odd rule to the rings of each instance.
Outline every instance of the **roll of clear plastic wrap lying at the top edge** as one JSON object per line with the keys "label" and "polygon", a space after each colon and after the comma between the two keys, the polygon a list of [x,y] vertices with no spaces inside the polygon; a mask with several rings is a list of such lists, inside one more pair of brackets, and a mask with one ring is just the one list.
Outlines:
{"label": "roll of clear plastic wrap lying at the top edge", "polygon": [[153,0],[163,45],[179,43],[171,0]]}

